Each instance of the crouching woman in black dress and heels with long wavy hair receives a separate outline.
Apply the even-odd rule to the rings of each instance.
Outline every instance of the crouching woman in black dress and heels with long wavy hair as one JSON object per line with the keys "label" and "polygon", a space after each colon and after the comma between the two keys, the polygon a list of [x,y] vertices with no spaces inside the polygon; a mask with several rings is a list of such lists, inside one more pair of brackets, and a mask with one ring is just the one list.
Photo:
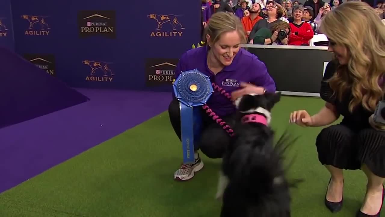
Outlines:
{"label": "crouching woman in black dress and heels with long wavy hair", "polygon": [[[356,216],[380,216],[385,195],[385,129],[371,122],[384,122],[379,113],[385,103],[385,28],[374,9],[358,1],[345,2],[325,15],[320,28],[329,39],[328,51],[334,54],[321,81],[325,106],[312,116],[306,110],[292,112],[290,122],[327,126],[315,142],[318,159],[331,175],[326,207],[331,212],[341,210],[345,181],[356,181],[344,180],[343,170],[361,169],[367,186]],[[342,121],[330,125],[340,115]]]}

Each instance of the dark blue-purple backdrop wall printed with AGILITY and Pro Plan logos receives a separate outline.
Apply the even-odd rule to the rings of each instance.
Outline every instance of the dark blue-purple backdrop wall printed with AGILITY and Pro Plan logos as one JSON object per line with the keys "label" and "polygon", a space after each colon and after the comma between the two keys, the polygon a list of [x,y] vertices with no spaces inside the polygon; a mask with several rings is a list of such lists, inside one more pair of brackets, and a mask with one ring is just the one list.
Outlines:
{"label": "dark blue-purple backdrop wall printed with AGILITY and Pro Plan logos", "polygon": [[200,1],[0,3],[0,46],[74,87],[171,91],[200,41]]}

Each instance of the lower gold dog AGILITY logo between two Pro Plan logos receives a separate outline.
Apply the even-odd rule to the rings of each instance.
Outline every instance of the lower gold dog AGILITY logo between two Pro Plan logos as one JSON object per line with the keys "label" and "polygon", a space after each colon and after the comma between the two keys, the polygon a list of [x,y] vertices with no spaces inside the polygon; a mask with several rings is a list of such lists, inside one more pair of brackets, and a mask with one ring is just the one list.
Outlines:
{"label": "lower gold dog AGILITY logo between two Pro Plan logos", "polygon": [[89,66],[90,73],[85,77],[86,81],[112,82],[114,79],[114,72],[112,72],[110,65],[103,61],[84,60],[83,64]]}

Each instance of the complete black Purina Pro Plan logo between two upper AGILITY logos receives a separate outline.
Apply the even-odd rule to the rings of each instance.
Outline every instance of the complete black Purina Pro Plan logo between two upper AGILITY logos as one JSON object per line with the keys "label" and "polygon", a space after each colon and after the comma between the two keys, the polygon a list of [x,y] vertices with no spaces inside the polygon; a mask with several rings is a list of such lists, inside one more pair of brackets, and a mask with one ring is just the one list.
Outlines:
{"label": "complete black Purina Pro Plan logo between two upper AGILITY logos", "polygon": [[114,10],[80,10],[78,24],[80,38],[91,36],[116,38]]}

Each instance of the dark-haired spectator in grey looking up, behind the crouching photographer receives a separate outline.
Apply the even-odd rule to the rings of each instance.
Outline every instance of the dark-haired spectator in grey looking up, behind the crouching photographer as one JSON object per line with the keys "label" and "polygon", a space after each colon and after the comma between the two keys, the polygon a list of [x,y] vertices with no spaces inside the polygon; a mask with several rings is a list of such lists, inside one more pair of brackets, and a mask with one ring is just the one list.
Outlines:
{"label": "dark-haired spectator in grey looking up, behind the crouching photographer", "polygon": [[255,33],[261,28],[271,29],[271,26],[277,22],[283,22],[280,18],[283,15],[283,9],[280,4],[274,4],[268,9],[268,18],[259,20],[253,27],[249,35],[249,44],[253,44]]}

